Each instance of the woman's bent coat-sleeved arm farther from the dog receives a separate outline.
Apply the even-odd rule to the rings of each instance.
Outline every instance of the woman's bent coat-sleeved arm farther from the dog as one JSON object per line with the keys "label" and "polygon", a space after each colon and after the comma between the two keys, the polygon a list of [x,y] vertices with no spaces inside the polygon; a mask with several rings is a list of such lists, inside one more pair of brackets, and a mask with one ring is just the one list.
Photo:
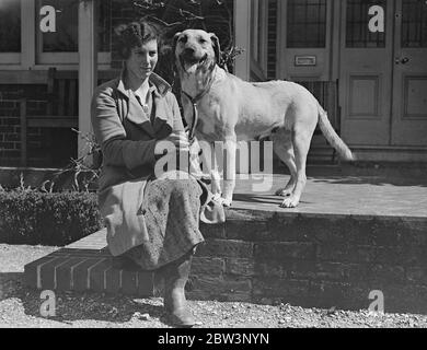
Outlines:
{"label": "woman's bent coat-sleeved arm farther from the dog", "polygon": [[99,89],[92,98],[91,119],[93,131],[101,144],[104,164],[134,170],[155,163],[157,140],[126,140],[126,131],[117,114],[116,102],[108,88]]}

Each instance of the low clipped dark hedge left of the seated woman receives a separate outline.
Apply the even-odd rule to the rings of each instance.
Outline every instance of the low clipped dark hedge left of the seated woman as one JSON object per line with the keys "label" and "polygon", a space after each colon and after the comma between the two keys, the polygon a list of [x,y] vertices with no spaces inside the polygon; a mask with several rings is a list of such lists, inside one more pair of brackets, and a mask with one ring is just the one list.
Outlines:
{"label": "low clipped dark hedge left of the seated woman", "polygon": [[0,243],[65,246],[102,228],[96,194],[0,190]]}

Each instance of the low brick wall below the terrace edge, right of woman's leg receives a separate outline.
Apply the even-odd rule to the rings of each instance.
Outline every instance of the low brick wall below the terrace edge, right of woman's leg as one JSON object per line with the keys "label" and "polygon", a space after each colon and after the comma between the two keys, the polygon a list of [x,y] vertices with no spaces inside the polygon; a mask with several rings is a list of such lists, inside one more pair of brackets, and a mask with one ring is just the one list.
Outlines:
{"label": "low brick wall below the terrace edge, right of woman's leg", "polygon": [[427,312],[427,222],[230,211],[204,226],[188,293],[196,299]]}

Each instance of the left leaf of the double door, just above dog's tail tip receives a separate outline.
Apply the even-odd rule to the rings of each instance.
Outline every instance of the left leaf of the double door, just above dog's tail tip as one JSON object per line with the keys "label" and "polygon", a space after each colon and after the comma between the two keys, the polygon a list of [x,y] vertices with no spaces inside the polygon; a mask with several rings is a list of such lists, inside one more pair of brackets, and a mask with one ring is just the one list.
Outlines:
{"label": "left leaf of the double door, just above dog's tail tip", "polygon": [[[384,9],[385,31],[371,33],[369,8]],[[342,136],[349,144],[390,143],[393,54],[393,1],[342,2]]]}

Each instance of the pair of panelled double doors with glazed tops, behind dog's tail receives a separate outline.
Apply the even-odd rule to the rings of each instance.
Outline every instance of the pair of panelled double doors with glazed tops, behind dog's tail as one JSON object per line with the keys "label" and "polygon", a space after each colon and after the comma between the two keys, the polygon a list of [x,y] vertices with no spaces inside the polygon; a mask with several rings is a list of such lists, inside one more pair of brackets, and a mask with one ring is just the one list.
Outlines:
{"label": "pair of panelled double doors with glazed tops, behind dog's tail", "polygon": [[[372,7],[383,31],[369,28]],[[343,1],[339,101],[349,144],[427,145],[425,0]]]}

